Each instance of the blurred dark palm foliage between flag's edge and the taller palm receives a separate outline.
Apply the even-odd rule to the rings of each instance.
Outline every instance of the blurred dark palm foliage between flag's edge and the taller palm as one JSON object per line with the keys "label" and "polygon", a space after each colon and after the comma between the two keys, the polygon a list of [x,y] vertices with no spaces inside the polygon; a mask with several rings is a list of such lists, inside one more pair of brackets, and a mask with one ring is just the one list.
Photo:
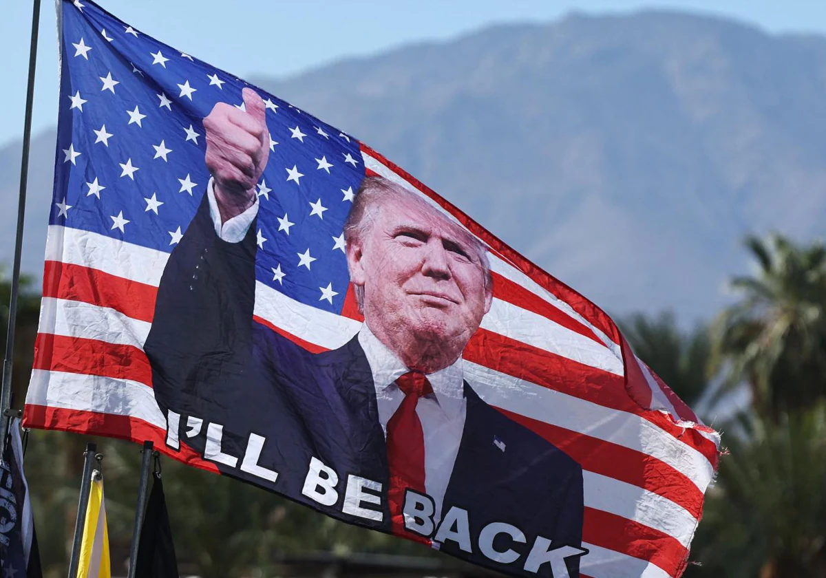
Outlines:
{"label": "blurred dark palm foliage between flag's edge and the taller palm", "polygon": [[619,320],[619,327],[637,357],[651,367],[680,399],[692,407],[700,401],[708,379],[711,345],[708,329],[697,325],[682,331],[675,317],[642,313]]}

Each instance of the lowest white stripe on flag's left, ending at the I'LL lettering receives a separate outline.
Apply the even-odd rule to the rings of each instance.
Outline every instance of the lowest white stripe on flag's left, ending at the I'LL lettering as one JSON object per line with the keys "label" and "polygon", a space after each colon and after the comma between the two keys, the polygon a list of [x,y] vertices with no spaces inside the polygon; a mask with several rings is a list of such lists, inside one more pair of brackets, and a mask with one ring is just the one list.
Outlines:
{"label": "lowest white stripe on flag's left, ending at the I'LL lettering", "polygon": [[166,431],[152,388],[128,379],[35,369],[26,404],[129,415]]}

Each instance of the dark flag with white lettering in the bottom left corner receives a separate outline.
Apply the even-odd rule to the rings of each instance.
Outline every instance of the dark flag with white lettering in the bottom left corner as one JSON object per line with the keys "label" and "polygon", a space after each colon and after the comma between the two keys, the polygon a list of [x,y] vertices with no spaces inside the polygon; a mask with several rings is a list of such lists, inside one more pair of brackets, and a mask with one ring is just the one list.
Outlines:
{"label": "dark flag with white lettering in the bottom left corner", "polygon": [[0,461],[0,576],[41,578],[29,485],[23,474],[19,419],[10,420],[7,440]]}

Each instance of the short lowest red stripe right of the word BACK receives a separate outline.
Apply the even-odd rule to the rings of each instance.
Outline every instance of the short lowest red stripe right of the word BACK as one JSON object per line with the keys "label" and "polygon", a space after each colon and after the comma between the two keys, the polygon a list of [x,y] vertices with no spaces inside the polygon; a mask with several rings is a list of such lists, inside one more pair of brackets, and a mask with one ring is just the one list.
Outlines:
{"label": "short lowest red stripe right of the word BACK", "polygon": [[586,508],[582,541],[656,564],[670,576],[685,565],[688,548],[667,533],[601,509]]}

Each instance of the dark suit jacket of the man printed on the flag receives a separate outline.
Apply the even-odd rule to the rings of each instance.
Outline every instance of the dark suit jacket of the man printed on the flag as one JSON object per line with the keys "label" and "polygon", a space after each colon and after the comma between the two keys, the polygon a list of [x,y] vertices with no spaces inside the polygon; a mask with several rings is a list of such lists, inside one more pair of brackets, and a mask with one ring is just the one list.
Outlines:
{"label": "dark suit jacket of the man printed on the flag", "polygon": [[[223,451],[239,459],[251,432],[267,438],[259,463],[279,472],[274,483],[221,465],[224,473],[336,518],[389,531],[387,449],[368,360],[357,338],[314,354],[254,322],[255,230],[253,224],[243,241],[225,243],[215,234],[204,198],[173,250],[145,343],[155,399],[164,414],[173,410],[182,415],[181,441],[200,452],[207,422],[224,426]],[[464,391],[464,432],[443,514],[451,505],[468,510],[474,551],[461,552],[456,542],[444,542],[440,549],[519,572],[538,534],[552,539],[554,546],[579,546],[582,468],[487,405],[467,381]],[[188,416],[204,422],[192,438],[187,436]],[[318,505],[301,494],[311,457],[339,475],[339,501],[333,506]],[[341,514],[350,474],[382,483],[381,522]],[[511,544],[504,536],[495,544],[524,553],[515,564],[489,561],[477,551],[479,531],[494,521],[513,524],[527,537],[526,544]],[[578,576],[578,558],[567,563],[571,576]],[[543,570],[549,576],[547,564]]]}

